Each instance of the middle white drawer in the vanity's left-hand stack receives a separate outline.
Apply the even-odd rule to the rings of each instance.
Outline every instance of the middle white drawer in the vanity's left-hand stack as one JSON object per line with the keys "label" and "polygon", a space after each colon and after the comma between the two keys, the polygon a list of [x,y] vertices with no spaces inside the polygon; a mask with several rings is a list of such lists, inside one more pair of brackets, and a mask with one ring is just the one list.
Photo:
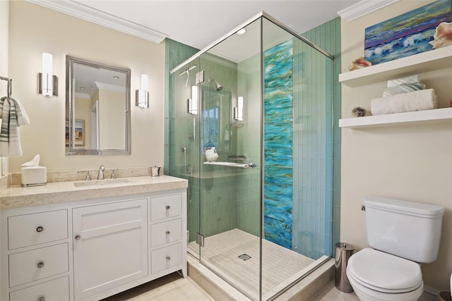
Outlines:
{"label": "middle white drawer in the vanity's left-hand stack", "polygon": [[69,271],[68,244],[9,255],[9,287]]}

